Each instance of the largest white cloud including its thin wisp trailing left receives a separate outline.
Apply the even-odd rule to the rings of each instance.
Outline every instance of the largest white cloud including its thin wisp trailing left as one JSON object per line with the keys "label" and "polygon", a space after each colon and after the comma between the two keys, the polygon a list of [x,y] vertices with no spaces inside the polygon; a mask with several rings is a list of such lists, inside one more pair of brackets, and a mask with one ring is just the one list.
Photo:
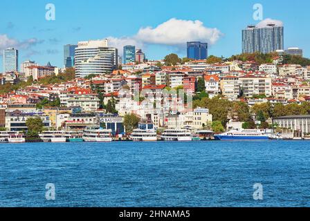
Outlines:
{"label": "largest white cloud including its thin wisp trailing left", "polygon": [[207,28],[201,21],[170,19],[156,28],[140,28],[138,33],[131,37],[107,37],[109,46],[118,48],[122,55],[122,47],[134,45],[143,48],[149,44],[176,46],[185,48],[187,41],[203,41],[215,44],[223,35],[217,28]]}

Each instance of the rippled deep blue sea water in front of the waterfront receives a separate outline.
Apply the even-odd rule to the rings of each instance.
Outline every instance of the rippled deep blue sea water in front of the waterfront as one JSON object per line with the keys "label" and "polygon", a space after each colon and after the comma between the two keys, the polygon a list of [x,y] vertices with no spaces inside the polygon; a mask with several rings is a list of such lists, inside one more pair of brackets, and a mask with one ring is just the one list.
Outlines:
{"label": "rippled deep blue sea water in front of the waterfront", "polygon": [[310,142],[0,144],[0,206],[310,206]]}

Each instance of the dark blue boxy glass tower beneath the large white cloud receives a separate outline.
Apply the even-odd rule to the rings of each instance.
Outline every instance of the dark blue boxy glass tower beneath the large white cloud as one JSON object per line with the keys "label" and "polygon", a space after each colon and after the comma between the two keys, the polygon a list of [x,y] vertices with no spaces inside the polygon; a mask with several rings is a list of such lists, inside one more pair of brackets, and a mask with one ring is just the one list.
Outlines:
{"label": "dark blue boxy glass tower beneath the large white cloud", "polygon": [[188,42],[188,58],[194,60],[202,60],[208,58],[208,43],[200,41]]}

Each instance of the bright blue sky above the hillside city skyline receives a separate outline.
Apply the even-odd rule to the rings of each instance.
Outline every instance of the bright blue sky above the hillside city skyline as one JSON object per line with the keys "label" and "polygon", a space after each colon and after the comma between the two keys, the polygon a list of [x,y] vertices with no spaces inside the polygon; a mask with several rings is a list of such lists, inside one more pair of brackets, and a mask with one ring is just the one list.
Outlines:
{"label": "bright blue sky above the hillside city skyline", "polygon": [[[55,5],[55,21],[45,19],[47,3]],[[180,35],[188,32],[183,21],[196,23],[198,20],[196,25],[202,31],[206,28],[210,35],[219,35],[207,40],[212,41],[209,55],[229,57],[241,52],[241,30],[248,24],[259,22],[253,19],[255,3],[264,7],[264,19],[284,23],[285,48],[300,47],[304,49],[305,57],[310,57],[310,2],[306,0],[293,3],[285,0],[1,0],[0,49],[15,46],[19,49],[20,62],[31,59],[46,64],[51,61],[61,67],[64,44],[112,37],[113,44],[120,46],[131,39],[136,41],[138,36],[137,44],[148,59],[161,59],[170,52],[185,57],[185,42],[172,44],[169,38],[173,41],[179,36],[172,36],[176,32],[179,31]],[[172,30],[157,42],[156,35],[165,29],[156,27],[165,22],[166,28],[170,30],[172,27]],[[192,23],[188,24],[189,27],[193,26]],[[144,28],[144,32],[137,35],[140,28]],[[0,64],[1,72],[2,56]]]}

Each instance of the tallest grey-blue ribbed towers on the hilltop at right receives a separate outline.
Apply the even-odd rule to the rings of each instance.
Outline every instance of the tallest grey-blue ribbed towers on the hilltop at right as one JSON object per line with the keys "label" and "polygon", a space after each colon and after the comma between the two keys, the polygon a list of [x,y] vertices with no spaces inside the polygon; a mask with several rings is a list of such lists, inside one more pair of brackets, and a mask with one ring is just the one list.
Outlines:
{"label": "tallest grey-blue ribbed towers on the hilltop at right", "polygon": [[268,23],[264,28],[248,26],[242,30],[242,52],[262,52],[264,54],[283,50],[284,27]]}

